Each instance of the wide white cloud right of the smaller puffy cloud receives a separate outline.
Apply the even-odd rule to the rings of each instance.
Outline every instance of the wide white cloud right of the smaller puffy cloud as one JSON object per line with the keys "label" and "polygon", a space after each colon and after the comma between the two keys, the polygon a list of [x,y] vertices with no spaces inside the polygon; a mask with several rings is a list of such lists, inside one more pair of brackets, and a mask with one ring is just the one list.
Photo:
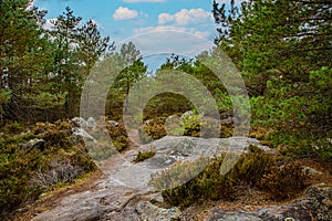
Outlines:
{"label": "wide white cloud right of the smaller puffy cloud", "polygon": [[176,22],[179,25],[186,25],[188,23],[201,22],[207,19],[211,19],[211,12],[205,11],[201,8],[198,9],[181,9],[175,14],[160,13],[158,17],[158,23],[165,24],[168,22]]}

